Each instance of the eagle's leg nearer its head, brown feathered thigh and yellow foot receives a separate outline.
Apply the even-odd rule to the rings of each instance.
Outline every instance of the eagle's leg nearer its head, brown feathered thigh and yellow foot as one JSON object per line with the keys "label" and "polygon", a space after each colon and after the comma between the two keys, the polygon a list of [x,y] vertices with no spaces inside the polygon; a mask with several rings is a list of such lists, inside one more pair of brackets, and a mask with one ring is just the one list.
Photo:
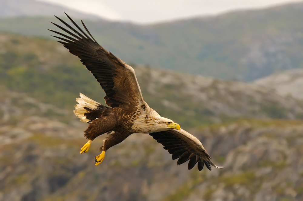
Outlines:
{"label": "eagle's leg nearer its head, brown feathered thigh and yellow foot", "polygon": [[110,135],[108,135],[108,137],[103,140],[103,145],[102,147],[100,147],[100,151],[102,150],[102,153],[98,156],[95,157],[95,165],[99,165],[102,160],[105,157],[105,151],[108,150],[110,147],[122,142],[123,140],[125,140],[125,138],[127,138],[130,134],[132,133],[112,133]]}

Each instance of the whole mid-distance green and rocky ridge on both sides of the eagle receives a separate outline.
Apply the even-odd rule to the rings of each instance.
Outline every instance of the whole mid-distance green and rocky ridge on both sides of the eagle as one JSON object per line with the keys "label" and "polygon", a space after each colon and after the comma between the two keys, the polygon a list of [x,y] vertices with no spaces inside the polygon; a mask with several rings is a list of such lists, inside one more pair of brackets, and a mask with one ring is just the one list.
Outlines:
{"label": "whole mid-distance green and rocky ridge on both sides of the eagle", "polygon": [[[69,111],[79,92],[104,104],[93,75],[58,42],[3,33],[0,42],[0,84],[9,90]],[[134,68],[148,105],[185,128],[243,117],[303,118],[303,101],[255,84]]]}

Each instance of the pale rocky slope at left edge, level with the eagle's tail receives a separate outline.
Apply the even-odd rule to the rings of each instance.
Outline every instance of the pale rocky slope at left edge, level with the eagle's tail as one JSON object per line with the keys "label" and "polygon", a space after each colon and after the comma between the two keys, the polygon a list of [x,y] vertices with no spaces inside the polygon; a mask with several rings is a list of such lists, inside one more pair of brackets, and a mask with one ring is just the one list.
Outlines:
{"label": "pale rocky slope at left edge, level with the eagle's tail", "polygon": [[22,142],[34,133],[82,137],[83,132],[77,128],[83,129],[84,125],[79,124],[72,111],[41,103],[26,94],[8,91],[1,85],[0,103],[0,146]]}

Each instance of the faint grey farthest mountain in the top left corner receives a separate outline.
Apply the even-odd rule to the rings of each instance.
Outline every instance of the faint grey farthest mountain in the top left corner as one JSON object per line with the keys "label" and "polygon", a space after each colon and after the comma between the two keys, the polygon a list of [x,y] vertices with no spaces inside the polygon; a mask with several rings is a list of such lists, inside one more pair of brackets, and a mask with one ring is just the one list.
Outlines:
{"label": "faint grey farthest mountain in the top left corner", "polygon": [[70,16],[81,19],[100,20],[98,16],[77,12],[70,8],[35,0],[1,0],[0,17],[16,16],[63,16],[67,12]]}

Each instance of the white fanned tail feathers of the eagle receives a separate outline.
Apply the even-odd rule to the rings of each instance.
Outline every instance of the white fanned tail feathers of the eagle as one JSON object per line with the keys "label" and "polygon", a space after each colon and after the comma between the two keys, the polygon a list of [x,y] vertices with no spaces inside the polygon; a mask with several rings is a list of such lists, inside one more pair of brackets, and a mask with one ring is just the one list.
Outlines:
{"label": "white fanned tail feathers of the eagle", "polygon": [[75,105],[76,109],[74,110],[74,113],[76,117],[78,117],[80,121],[89,122],[90,120],[86,119],[86,117],[84,116],[84,113],[88,112],[88,110],[86,110],[84,107],[87,107],[91,110],[95,110],[98,108],[100,103],[90,99],[89,97],[81,93],[80,93],[80,98],[76,98],[76,101],[79,103]]}

